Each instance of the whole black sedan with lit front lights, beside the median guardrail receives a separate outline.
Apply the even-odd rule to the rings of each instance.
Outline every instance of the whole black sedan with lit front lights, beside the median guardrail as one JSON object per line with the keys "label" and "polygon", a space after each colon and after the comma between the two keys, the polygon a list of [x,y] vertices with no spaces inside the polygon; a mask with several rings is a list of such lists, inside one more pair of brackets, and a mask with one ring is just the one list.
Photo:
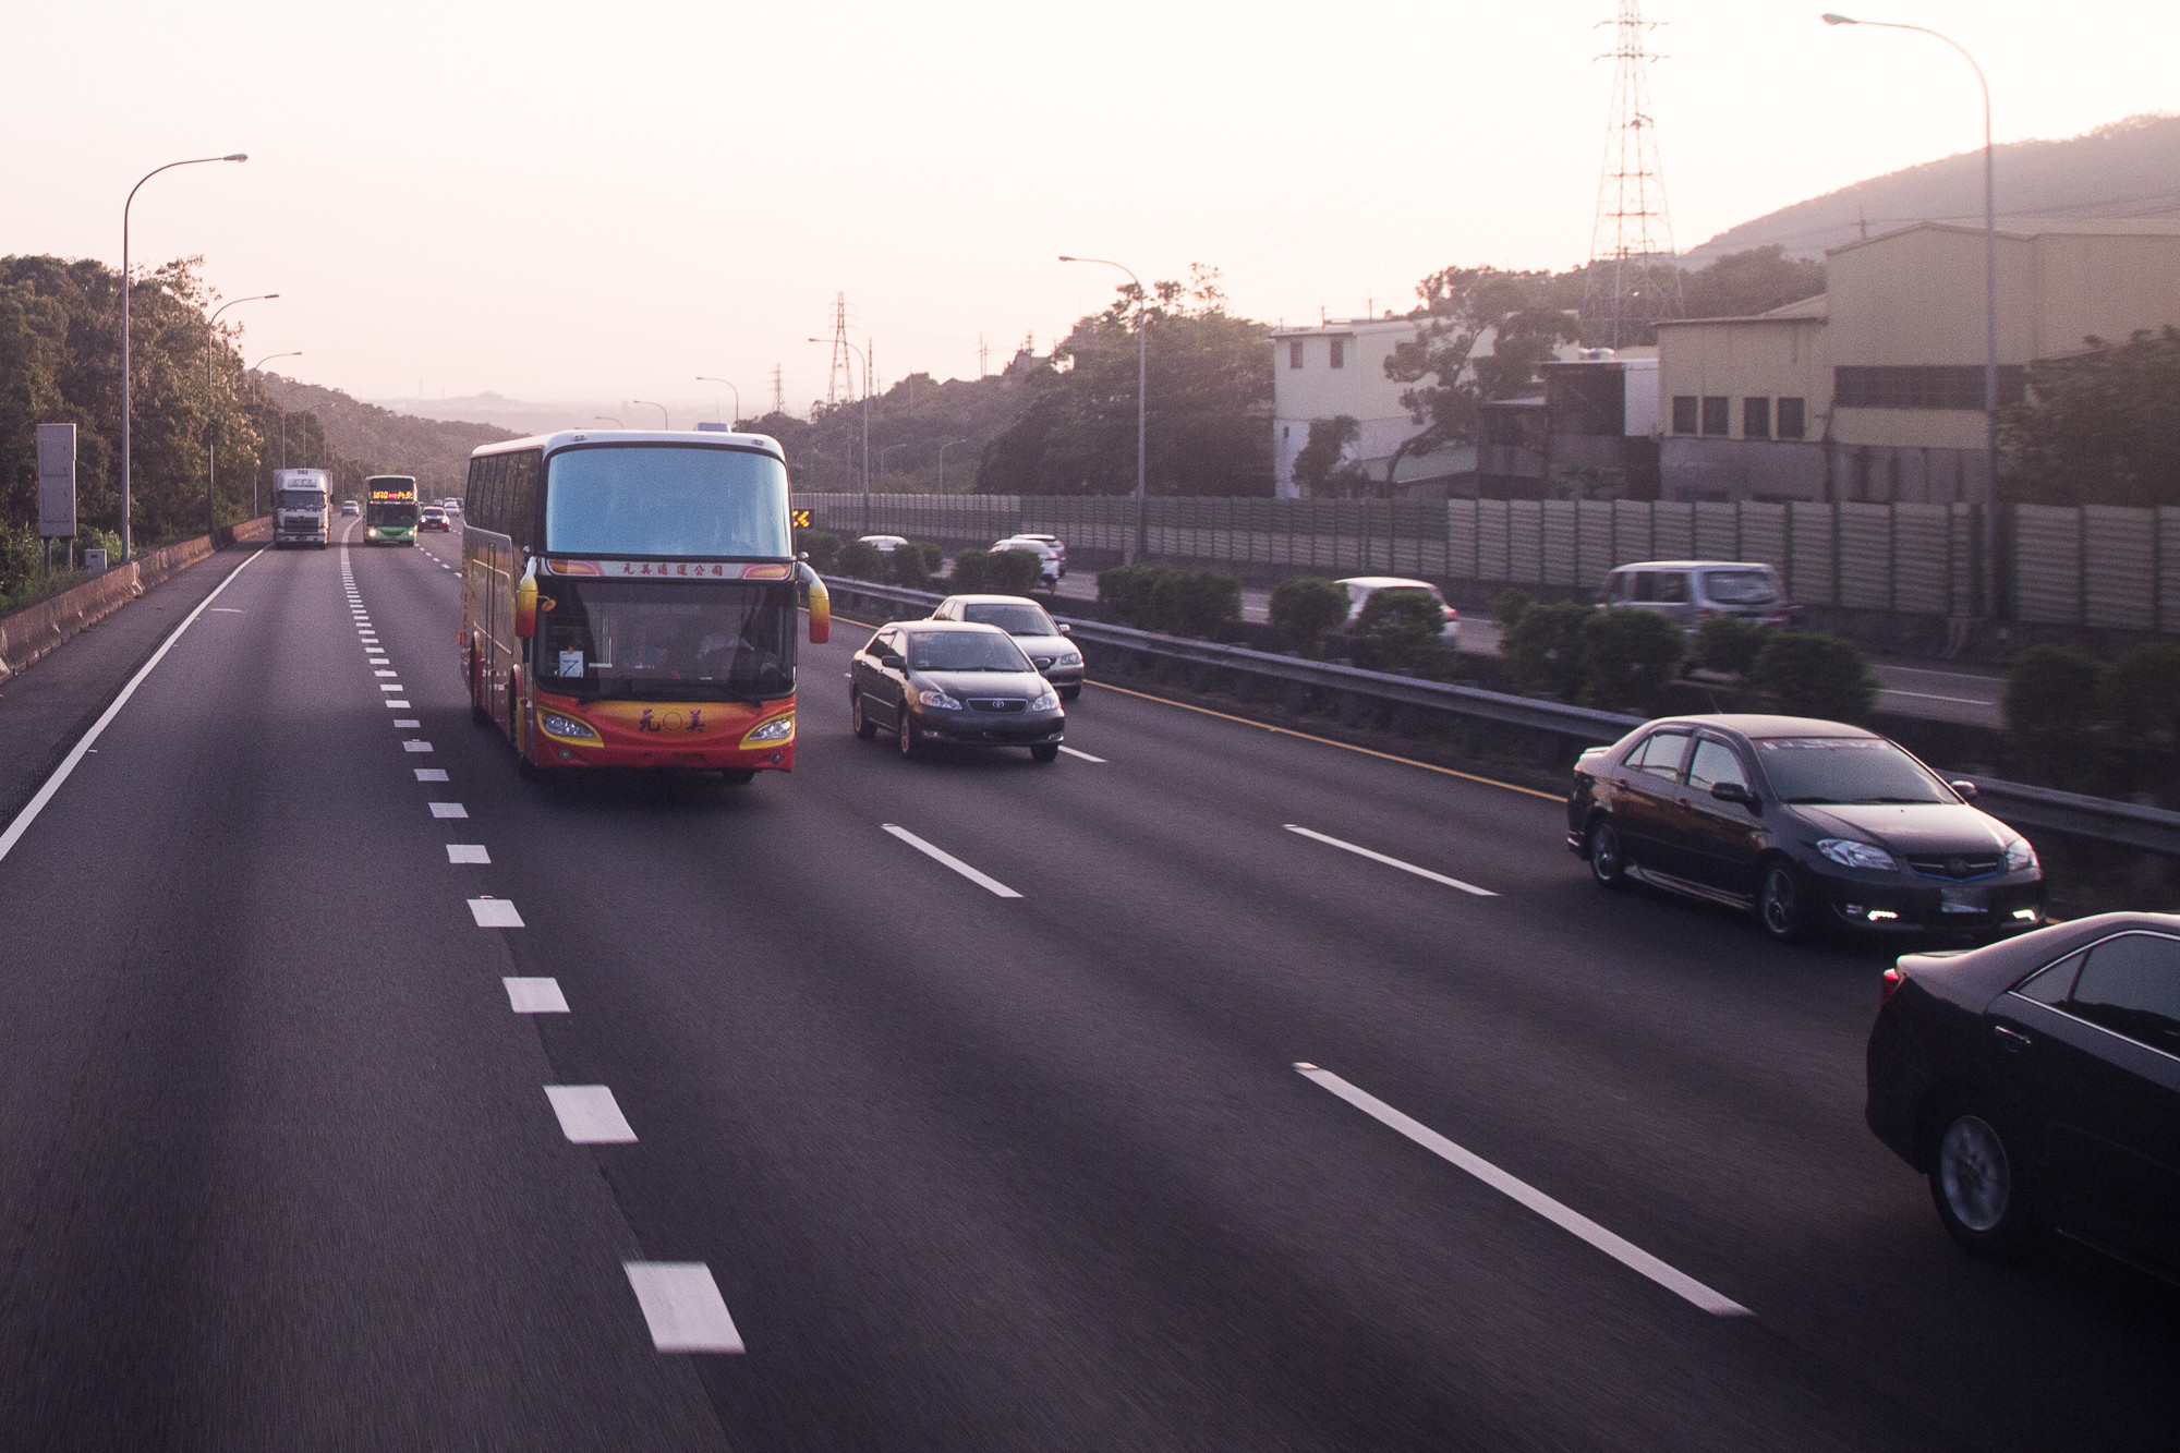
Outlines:
{"label": "whole black sedan with lit front lights, beside the median guardrail", "polygon": [[1971,807],[1973,794],[1862,726],[1663,718],[1574,764],[1567,846],[1607,888],[1642,881],[1753,910],[1779,940],[2036,927],[2036,849]]}

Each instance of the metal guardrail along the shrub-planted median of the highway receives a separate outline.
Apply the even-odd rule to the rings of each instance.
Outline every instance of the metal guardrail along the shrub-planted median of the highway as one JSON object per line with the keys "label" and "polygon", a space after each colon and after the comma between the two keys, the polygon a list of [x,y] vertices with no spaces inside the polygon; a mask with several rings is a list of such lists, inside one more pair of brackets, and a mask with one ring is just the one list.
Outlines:
{"label": "metal guardrail along the shrub-planted median of the highway", "polygon": [[[852,596],[911,607],[918,615],[929,615],[931,609],[944,600],[944,596],[911,591],[898,585],[865,585],[859,580],[828,580],[826,585],[833,589],[835,607],[844,596]],[[1395,676],[1389,672],[1367,672],[1356,665],[1339,665],[1336,661],[1304,661],[1301,657],[1280,657],[1267,650],[1249,650],[1245,646],[1195,641],[1188,637],[1134,631],[1129,626],[1112,626],[1094,620],[1070,620],[1066,615],[1055,615],[1055,620],[1064,620],[1073,628],[1073,637],[1077,641],[1090,641],[1094,646],[1131,650],[1164,661],[1186,661],[1190,665],[1234,670],[1273,681],[1291,681],[1328,692],[1352,692],[1354,696],[1395,700],[1410,707],[1452,711],[1456,716],[1474,716],[1487,722],[1526,726],[1530,731],[1550,733],[1581,744],[1618,742],[1628,731],[1644,724],[1644,718],[1639,716],[1591,711],[1589,707],[1565,707],[1554,700],[1509,696],[1504,692],[1485,692],[1480,687],[1450,685],[1441,681],[1417,681],[1415,676]],[[1973,781],[1975,805],[2012,827],[2040,827],[2073,838],[2091,838],[2095,842],[2112,842],[2119,846],[2180,857],[2180,812],[2143,807],[2139,803],[2119,803],[2108,796],[2082,796],[2078,792],[2058,792],[2054,788],[2032,788],[2027,783],[2001,781],[1997,777],[1960,777],[1955,781]]]}

